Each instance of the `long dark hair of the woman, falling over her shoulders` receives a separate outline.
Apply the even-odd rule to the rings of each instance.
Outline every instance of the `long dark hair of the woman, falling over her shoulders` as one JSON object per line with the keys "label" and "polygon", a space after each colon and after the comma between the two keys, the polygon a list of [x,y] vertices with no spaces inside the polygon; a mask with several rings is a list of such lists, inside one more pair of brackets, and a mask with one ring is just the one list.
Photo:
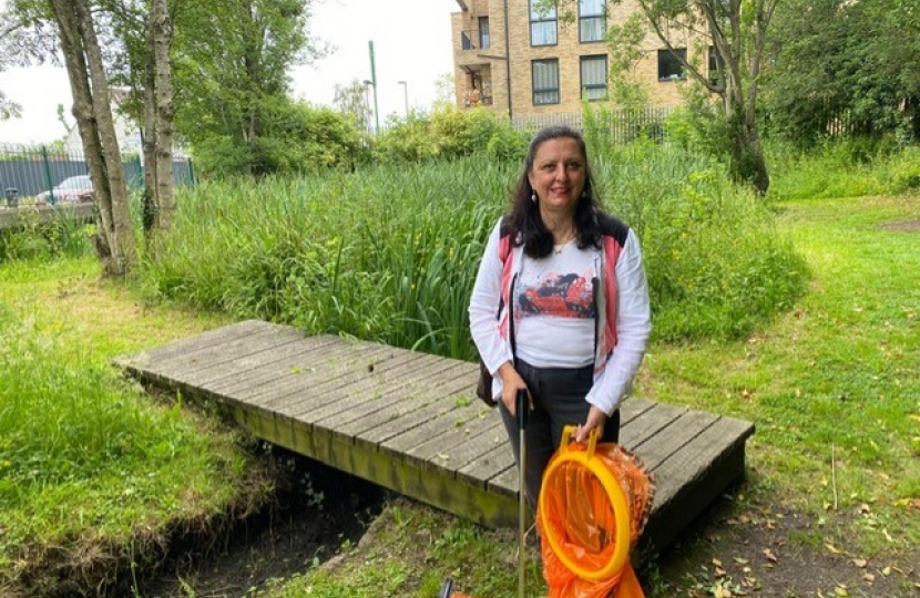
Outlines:
{"label": "long dark hair of the woman, falling over her shoulders", "polygon": [[531,258],[549,256],[553,250],[553,235],[540,217],[540,206],[531,199],[534,190],[528,174],[533,169],[533,162],[540,146],[551,140],[573,140],[584,158],[584,190],[575,206],[575,230],[577,231],[579,248],[589,246],[600,247],[601,226],[597,214],[601,203],[594,195],[594,185],[591,177],[591,166],[587,163],[587,148],[581,133],[571,126],[553,125],[540,131],[530,142],[524,167],[511,195],[511,212],[503,221],[504,229],[511,234],[515,246],[523,245],[524,254]]}

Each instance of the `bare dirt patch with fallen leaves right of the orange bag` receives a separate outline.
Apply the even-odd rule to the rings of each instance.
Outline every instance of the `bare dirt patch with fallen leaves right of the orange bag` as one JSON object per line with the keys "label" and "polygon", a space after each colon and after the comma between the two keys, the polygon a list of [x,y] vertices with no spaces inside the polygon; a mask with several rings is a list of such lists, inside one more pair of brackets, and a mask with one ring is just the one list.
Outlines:
{"label": "bare dirt patch with fallen leaves right of the orange bag", "polygon": [[920,547],[863,558],[832,517],[816,524],[787,508],[725,495],[655,564],[673,596],[688,598],[908,598],[920,596]]}

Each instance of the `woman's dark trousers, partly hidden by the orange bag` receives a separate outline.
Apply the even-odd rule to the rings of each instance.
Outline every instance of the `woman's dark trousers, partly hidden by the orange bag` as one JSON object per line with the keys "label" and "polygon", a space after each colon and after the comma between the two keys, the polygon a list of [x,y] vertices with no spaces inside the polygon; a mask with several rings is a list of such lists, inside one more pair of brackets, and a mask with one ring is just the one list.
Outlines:
{"label": "woman's dark trousers, partly hidden by the orange bag", "polygon": [[[531,509],[535,511],[543,472],[546,470],[550,457],[553,456],[562,442],[562,429],[566,425],[581,425],[587,420],[591,404],[584,398],[594,383],[594,367],[585,365],[577,369],[534,368],[519,359],[517,370],[533,398],[533,411],[528,415],[528,424],[524,430],[527,444],[524,478],[528,503]],[[518,420],[511,415],[501,401],[499,401],[499,412],[508,432],[508,439],[511,441],[514,463],[518,464],[520,471],[521,446]],[[604,435],[600,440],[604,442],[620,441],[619,410],[607,417],[604,425]]]}

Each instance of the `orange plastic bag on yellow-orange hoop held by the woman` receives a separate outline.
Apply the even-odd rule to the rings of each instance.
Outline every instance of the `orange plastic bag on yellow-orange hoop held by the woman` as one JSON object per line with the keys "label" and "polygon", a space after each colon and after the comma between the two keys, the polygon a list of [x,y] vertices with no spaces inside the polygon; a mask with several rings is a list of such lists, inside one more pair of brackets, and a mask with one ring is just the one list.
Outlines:
{"label": "orange plastic bag on yellow-orange hoop held by the woman", "polygon": [[536,518],[549,598],[606,598],[614,588],[617,598],[642,597],[628,551],[654,494],[642,461],[622,446],[564,440],[546,467]]}

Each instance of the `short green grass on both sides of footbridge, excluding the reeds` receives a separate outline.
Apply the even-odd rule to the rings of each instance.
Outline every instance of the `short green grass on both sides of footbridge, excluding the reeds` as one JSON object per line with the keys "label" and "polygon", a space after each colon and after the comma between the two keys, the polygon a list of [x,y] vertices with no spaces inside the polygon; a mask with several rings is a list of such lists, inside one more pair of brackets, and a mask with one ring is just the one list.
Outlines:
{"label": "short green grass on both sides of footbridge, excluding the reeds", "polygon": [[[882,561],[916,556],[920,199],[800,200],[776,209],[777,229],[811,270],[809,292],[742,341],[653,346],[638,394],[754,421],[746,499],[809,518],[817,546]],[[115,553],[126,554],[136,538],[156,537],[143,535],[137,522],[157,529],[176,517],[207,520],[233,503],[247,475],[233,434],[149,400],[108,364],[114,355],[229,320],[149,305],[133,287],[99,281],[98,275],[91,258],[0,266],[0,424],[12,426],[0,425],[0,590],[23,567],[40,565],[23,564],[27,551],[39,560],[50,558],[52,546],[76,554],[90,538],[89,546],[124,543]],[[37,364],[43,373],[32,373]],[[83,395],[98,401],[81,409],[117,405],[114,416],[103,414],[119,442],[82,435],[88,431],[70,424],[80,417],[67,411],[75,404],[69,398]],[[29,409],[44,411],[39,416]],[[133,427],[153,432],[117,427],[125,414],[143,423]],[[52,416],[70,423],[42,429]],[[103,456],[123,461],[94,470],[85,454],[68,453],[67,467],[37,476],[40,468],[16,461],[19,445],[8,442],[16,426],[33,435],[65,430],[71,439],[95,439]],[[31,457],[51,463],[50,451],[39,446]],[[120,470],[132,464],[139,470]],[[396,502],[372,542],[344,547],[335,567],[304,571],[263,592],[376,598],[386,588],[387,596],[430,598],[441,579],[462,576],[464,587],[482,596],[511,596],[512,536]],[[531,578],[539,579],[539,571]],[[647,595],[660,585],[651,580]],[[533,584],[529,596],[543,591]]]}

